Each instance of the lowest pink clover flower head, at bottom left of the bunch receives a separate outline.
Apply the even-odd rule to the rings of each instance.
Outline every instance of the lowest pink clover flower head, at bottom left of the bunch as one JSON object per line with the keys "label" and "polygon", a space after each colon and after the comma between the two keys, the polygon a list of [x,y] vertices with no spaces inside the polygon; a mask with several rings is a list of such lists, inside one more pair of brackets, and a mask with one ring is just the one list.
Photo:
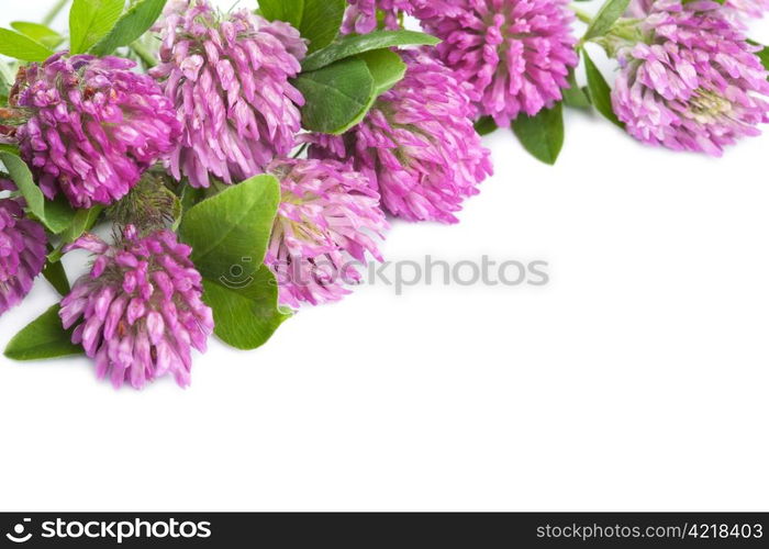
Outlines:
{"label": "lowest pink clover flower head, at bottom left of the bunch", "polygon": [[191,348],[204,352],[213,330],[189,246],[170,231],[141,237],[129,225],[114,246],[85,235],[66,249],[96,255],[59,315],[65,328],[77,325],[73,343],[96,360],[97,376],[109,374],[115,389],[142,389],[167,373],[189,385]]}

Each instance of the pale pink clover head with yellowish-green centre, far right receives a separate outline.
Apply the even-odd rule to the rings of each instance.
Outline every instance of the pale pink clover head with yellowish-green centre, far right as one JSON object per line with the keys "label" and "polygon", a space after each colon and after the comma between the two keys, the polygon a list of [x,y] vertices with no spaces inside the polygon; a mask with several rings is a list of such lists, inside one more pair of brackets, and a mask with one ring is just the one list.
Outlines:
{"label": "pale pink clover head with yellowish-green centre, far right", "polygon": [[769,122],[767,71],[715,2],[659,0],[643,41],[616,52],[612,103],[627,132],[653,145],[720,156]]}

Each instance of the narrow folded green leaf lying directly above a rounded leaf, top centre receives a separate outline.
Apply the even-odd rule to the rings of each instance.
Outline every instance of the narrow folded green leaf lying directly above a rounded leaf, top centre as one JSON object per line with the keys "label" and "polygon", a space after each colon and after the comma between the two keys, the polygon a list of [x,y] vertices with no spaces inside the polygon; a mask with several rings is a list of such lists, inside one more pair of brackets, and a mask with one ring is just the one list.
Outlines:
{"label": "narrow folded green leaf lying directly above a rounded leaf, top centre", "polygon": [[414,31],[375,31],[369,34],[349,35],[328,47],[308,56],[302,63],[305,71],[317,70],[332,63],[354,55],[397,46],[434,46],[441,43],[435,36]]}

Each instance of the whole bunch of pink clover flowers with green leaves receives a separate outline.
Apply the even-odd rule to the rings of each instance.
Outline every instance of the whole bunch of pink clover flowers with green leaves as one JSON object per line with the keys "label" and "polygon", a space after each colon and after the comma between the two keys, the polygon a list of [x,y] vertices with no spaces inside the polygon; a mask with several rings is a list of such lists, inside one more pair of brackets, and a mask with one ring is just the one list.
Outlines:
{"label": "whole bunch of pink clover flowers with green leaves", "polygon": [[255,349],[342,299],[389,217],[456,223],[481,134],[553,164],[565,105],[712,155],[769,122],[744,34],[767,0],[73,0],[65,36],[69,3],[0,29],[0,314],[42,274],[62,301],[5,355],[85,354],[118,388],[186,386],[211,335]]}

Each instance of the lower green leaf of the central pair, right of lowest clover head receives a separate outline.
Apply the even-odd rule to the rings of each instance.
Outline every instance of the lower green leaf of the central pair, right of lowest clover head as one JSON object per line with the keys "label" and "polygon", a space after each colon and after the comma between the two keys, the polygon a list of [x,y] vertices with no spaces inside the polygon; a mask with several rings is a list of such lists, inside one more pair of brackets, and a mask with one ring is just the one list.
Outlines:
{"label": "lower green leaf of the central pair, right of lowest clover head", "polygon": [[278,305],[278,283],[264,265],[238,287],[203,281],[203,301],[213,311],[214,333],[242,350],[261,347],[290,317]]}

